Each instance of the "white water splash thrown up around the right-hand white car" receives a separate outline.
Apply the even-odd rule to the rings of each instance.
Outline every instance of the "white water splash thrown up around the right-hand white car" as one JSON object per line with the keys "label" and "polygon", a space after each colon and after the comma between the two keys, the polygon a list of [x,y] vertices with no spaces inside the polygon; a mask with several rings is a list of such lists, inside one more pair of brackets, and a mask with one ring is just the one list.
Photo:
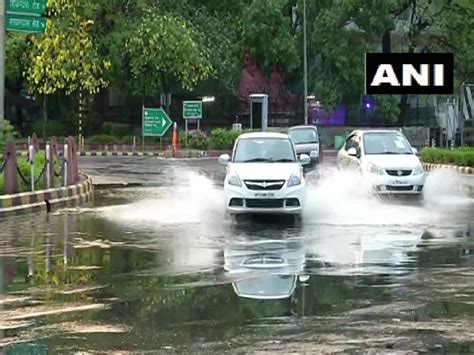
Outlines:
{"label": "white water splash thrown up around the right-hand white car", "polygon": [[[448,222],[447,206],[458,211],[473,201],[459,188],[459,179],[445,173],[430,174],[425,202],[417,204],[398,198],[381,200],[370,194],[370,186],[359,174],[333,170],[316,186],[308,187],[304,220],[307,224],[412,227]],[[453,190],[449,186],[458,187]],[[439,208],[440,202],[443,208]]]}

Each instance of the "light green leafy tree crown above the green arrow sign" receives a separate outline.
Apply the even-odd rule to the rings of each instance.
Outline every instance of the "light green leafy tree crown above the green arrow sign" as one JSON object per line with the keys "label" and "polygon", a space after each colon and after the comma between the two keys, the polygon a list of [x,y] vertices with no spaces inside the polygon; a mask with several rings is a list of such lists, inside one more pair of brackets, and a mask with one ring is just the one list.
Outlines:
{"label": "light green leafy tree crown above the green arrow sign", "polygon": [[135,19],[125,42],[132,74],[133,93],[152,97],[169,78],[187,90],[212,73],[204,34],[177,14],[157,12],[151,7]]}

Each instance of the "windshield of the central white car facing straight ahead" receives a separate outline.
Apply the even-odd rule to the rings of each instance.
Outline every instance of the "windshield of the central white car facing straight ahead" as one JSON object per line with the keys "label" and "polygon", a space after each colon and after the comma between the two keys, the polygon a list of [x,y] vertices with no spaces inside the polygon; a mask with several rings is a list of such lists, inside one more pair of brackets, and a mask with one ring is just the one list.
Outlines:
{"label": "windshield of the central white car facing straight ahead", "polygon": [[295,162],[296,156],[289,139],[245,138],[235,149],[235,163]]}

